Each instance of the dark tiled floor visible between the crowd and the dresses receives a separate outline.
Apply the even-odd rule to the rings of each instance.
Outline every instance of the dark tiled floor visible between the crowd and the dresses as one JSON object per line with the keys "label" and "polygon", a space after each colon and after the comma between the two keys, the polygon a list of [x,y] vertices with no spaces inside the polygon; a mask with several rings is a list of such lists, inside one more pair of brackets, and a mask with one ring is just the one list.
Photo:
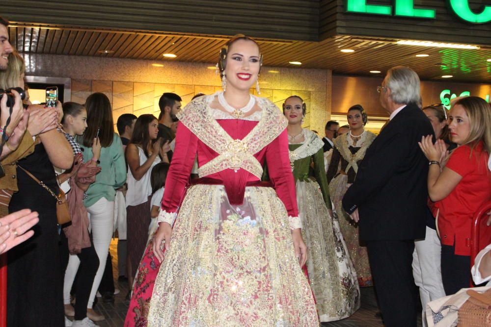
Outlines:
{"label": "dark tiled floor visible between the crowd and the dresses", "polygon": [[[110,251],[113,267],[117,267],[116,247],[117,243],[112,242]],[[113,272],[115,277],[114,286],[120,290],[120,293],[114,297],[114,303],[102,303],[102,301],[99,301],[94,307],[97,312],[106,317],[105,321],[98,323],[100,327],[122,327],[128,310],[128,302],[125,301],[129,289],[128,283],[118,283],[117,270],[113,270]],[[323,323],[322,327],[383,327],[382,320],[376,317],[378,311],[373,287],[365,287],[361,289],[361,307],[353,316],[337,322]],[[421,317],[418,317],[417,327],[421,326]]]}

